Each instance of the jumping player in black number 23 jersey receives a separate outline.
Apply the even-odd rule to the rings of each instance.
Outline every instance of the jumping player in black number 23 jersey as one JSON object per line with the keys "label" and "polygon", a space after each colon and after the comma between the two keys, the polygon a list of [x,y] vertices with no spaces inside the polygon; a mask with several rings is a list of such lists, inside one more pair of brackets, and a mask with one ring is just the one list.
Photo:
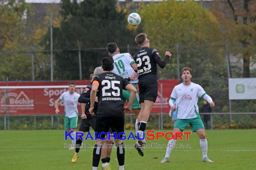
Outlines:
{"label": "jumping player in black number 23 jersey", "polygon": [[[168,59],[172,56],[169,51],[165,52],[165,59],[162,60],[159,52],[156,49],[150,48],[150,42],[147,35],[144,33],[138,34],[135,42],[141,48],[135,54],[135,61],[137,62],[139,73],[139,97],[141,104],[141,111],[138,116],[139,130],[137,133],[140,138],[146,129],[146,123],[149,119],[150,111],[158,94],[158,78],[157,78],[157,64],[160,68],[164,68]],[[145,144],[146,140],[139,140],[139,144]]]}

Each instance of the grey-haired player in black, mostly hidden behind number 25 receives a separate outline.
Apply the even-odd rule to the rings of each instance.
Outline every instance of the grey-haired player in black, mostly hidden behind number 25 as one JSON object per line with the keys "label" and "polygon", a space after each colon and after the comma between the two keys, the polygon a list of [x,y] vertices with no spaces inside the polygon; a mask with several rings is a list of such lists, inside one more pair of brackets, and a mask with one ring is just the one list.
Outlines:
{"label": "grey-haired player in black, mostly hidden behind number 25", "polygon": [[[97,67],[94,70],[94,73],[90,75],[90,81],[91,83],[84,89],[83,93],[80,95],[78,102],[84,104],[84,108],[82,108],[82,121],[79,127],[79,132],[89,132],[90,127],[93,128],[94,131],[96,131],[96,119],[97,116],[96,115],[90,115],[89,113],[89,108],[90,108],[90,93],[91,93],[91,89],[92,89],[92,81],[93,78],[99,74],[103,73],[103,69],[101,67]],[[98,96],[98,94],[97,94]],[[97,113],[97,108],[98,108],[98,97],[95,98],[95,104],[94,104],[94,113]],[[110,131],[109,131],[110,132]],[[112,144],[112,140],[104,140],[104,144]],[[82,140],[80,139],[80,137],[78,137],[78,140],[76,140],[76,145],[78,147],[75,148],[75,155],[72,158],[72,162],[76,162],[80,150],[80,145],[82,144]],[[110,162],[110,154],[111,154],[111,148],[104,148],[102,150],[102,169],[104,166],[104,164],[108,164]]]}

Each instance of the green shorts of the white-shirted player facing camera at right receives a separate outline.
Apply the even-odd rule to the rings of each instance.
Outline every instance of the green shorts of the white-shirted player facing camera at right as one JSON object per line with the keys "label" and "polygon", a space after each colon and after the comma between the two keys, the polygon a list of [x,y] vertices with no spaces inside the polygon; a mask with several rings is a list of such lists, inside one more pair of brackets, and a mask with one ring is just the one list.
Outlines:
{"label": "green shorts of the white-shirted player facing camera at right", "polygon": [[198,129],[204,129],[203,121],[200,117],[192,119],[177,119],[174,127],[177,127],[184,131],[184,129],[190,124],[192,132],[195,132]]}

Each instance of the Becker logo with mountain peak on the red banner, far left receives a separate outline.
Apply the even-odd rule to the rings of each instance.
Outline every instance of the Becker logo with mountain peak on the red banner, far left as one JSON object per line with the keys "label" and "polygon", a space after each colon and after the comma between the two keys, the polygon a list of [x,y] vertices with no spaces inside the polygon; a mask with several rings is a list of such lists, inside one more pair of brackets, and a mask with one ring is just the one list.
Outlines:
{"label": "Becker logo with mountain peak on the red banner, far left", "polygon": [[1,108],[9,107],[34,107],[34,100],[27,97],[26,93],[21,91],[17,93],[7,93],[1,99]]}

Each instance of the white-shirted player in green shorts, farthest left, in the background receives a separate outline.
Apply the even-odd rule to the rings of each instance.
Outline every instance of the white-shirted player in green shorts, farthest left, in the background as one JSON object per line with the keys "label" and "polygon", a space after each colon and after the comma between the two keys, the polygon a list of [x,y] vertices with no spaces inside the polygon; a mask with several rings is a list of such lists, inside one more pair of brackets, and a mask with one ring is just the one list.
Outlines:
{"label": "white-shirted player in green shorts, farthest left, in the background", "polygon": [[77,119],[78,119],[78,98],[79,94],[75,92],[75,83],[70,82],[68,84],[68,91],[61,94],[61,96],[55,101],[55,113],[58,114],[59,110],[59,102],[63,100],[64,102],[64,129],[69,133],[70,131],[74,131],[71,133],[71,136],[74,138],[72,140],[72,147],[69,149],[75,149],[75,128],[77,127]]}

